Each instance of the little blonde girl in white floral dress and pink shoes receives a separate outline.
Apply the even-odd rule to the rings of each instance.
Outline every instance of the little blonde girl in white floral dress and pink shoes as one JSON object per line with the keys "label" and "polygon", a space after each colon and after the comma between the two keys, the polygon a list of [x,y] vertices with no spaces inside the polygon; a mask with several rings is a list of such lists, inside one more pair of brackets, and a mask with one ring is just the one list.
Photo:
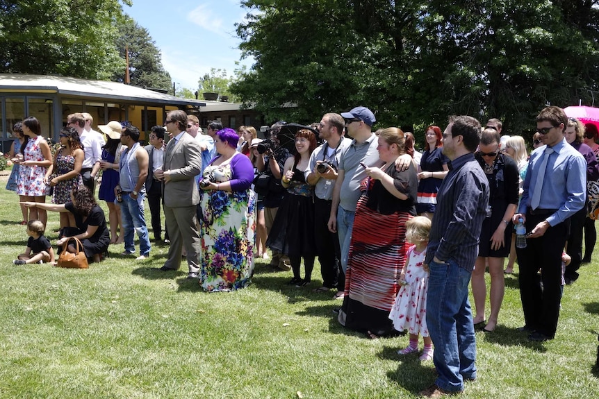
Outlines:
{"label": "little blonde girl in white floral dress and pink shoes", "polygon": [[418,334],[422,334],[425,348],[420,361],[432,360],[433,344],[427,328],[427,290],[429,271],[422,268],[425,260],[431,221],[427,217],[414,217],[406,222],[406,239],[412,244],[407,252],[406,266],[399,283],[402,285],[391,308],[389,319],[397,331],[409,330],[410,344],[397,350],[399,355],[418,352]]}

